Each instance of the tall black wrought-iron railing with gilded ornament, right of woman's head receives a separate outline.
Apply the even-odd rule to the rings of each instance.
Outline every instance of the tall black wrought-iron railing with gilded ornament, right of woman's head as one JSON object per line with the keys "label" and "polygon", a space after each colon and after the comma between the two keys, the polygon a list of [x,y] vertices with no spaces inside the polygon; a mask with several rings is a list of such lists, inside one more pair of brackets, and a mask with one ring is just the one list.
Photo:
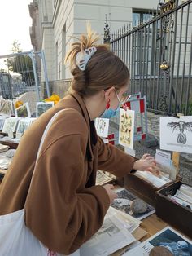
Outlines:
{"label": "tall black wrought-iron railing with gilded ornament, right of woman's head", "polygon": [[146,95],[149,110],[192,115],[192,4],[170,2],[146,24],[112,33],[111,51],[129,67],[129,93]]}

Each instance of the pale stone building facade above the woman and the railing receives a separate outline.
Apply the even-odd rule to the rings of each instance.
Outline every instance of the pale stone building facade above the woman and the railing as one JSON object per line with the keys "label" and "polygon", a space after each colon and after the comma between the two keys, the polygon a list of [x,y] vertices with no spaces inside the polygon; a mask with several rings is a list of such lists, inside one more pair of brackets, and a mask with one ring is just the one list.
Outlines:
{"label": "pale stone building facade above the woman and the railing", "polygon": [[72,37],[85,33],[87,21],[103,41],[106,18],[111,32],[124,24],[137,26],[151,19],[158,3],[159,0],[33,0],[29,5],[33,19],[31,40],[35,50],[45,51],[49,81],[71,78],[63,60]]}

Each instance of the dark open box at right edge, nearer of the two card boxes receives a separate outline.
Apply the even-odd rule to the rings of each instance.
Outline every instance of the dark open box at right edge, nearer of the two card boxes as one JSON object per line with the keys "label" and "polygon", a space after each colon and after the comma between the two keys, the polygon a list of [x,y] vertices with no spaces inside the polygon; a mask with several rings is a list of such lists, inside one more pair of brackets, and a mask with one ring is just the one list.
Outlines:
{"label": "dark open box at right edge, nearer of the two card boxes", "polygon": [[167,196],[173,196],[181,184],[181,181],[177,180],[155,193],[156,215],[192,239],[192,210],[177,204]]}

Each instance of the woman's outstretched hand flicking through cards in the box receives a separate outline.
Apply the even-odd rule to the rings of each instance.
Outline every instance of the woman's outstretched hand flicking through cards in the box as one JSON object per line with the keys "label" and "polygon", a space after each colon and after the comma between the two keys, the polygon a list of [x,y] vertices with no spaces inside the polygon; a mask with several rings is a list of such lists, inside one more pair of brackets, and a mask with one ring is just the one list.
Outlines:
{"label": "woman's outstretched hand flicking through cards in the box", "polygon": [[155,172],[155,158],[151,157],[150,154],[145,154],[142,156],[140,160],[134,162],[133,169],[135,170],[148,170],[151,172]]}

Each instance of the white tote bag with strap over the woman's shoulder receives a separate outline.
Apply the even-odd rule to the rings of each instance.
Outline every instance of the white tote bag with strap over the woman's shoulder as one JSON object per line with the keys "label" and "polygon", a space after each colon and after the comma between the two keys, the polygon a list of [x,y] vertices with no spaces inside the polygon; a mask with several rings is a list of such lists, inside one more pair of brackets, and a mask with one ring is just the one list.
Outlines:
{"label": "white tote bag with strap over the woman's shoulder", "polygon": [[[58,117],[60,110],[49,121],[46,130],[41,138],[41,143],[37,152],[37,159],[39,157],[42,143],[46,138],[47,131],[51,124]],[[36,159],[36,164],[37,164]],[[33,177],[32,177],[33,180]],[[24,224],[24,209],[15,211],[11,214],[0,216],[0,255],[3,256],[59,256],[58,254],[46,246],[42,245],[37,240],[33,233]],[[72,256],[80,255],[79,249],[71,254]]]}

